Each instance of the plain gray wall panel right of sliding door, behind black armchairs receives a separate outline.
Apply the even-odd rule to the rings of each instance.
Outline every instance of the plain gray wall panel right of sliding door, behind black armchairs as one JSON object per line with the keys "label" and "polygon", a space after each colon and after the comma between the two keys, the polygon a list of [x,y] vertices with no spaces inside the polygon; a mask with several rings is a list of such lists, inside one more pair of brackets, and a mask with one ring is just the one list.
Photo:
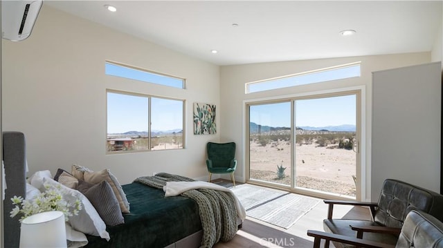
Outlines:
{"label": "plain gray wall panel right of sliding door, behind black armchairs", "polygon": [[441,71],[439,61],[372,74],[372,192],[386,178],[440,192]]}

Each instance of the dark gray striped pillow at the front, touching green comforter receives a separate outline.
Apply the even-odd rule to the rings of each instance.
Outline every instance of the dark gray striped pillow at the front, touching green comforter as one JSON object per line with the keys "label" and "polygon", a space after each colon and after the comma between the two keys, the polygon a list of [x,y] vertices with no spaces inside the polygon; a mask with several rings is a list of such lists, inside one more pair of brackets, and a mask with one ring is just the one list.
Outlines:
{"label": "dark gray striped pillow at the front, touching green comforter", "polygon": [[92,184],[78,180],[77,190],[88,198],[106,225],[115,226],[125,223],[120,204],[107,181]]}

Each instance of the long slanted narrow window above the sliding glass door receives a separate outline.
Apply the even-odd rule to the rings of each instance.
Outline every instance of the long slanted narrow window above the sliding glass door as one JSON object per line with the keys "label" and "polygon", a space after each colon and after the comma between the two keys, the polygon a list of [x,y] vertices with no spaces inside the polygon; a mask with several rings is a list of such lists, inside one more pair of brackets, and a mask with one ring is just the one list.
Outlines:
{"label": "long slanted narrow window above the sliding glass door", "polygon": [[350,77],[360,77],[360,62],[246,83],[246,94]]}

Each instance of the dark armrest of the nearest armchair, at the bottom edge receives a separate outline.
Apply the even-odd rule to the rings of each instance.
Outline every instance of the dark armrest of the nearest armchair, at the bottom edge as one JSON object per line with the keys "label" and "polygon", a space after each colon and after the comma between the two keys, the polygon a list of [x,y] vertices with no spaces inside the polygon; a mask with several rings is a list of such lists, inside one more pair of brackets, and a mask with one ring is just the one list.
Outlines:
{"label": "dark armrest of the nearest armchair, at the bottom edge", "polygon": [[362,240],[350,236],[343,236],[334,233],[326,233],[324,231],[307,230],[307,236],[314,237],[314,248],[320,248],[320,240],[341,242],[343,244],[354,245],[355,247],[367,248],[394,248],[395,245],[383,244],[370,240]]}

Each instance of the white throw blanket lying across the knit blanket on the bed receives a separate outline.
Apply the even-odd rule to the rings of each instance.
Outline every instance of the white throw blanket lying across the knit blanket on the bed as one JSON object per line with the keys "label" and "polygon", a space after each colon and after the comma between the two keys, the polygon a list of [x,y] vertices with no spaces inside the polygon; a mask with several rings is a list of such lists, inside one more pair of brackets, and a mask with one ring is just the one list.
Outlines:
{"label": "white throw blanket lying across the knit blanket on the bed", "polygon": [[237,196],[233,193],[233,191],[218,184],[213,184],[212,182],[203,182],[203,181],[166,182],[166,185],[163,187],[163,191],[165,191],[165,197],[180,195],[181,193],[188,191],[190,189],[214,189],[230,193],[230,195],[232,195],[235,200],[235,208],[237,209],[238,217],[242,220],[246,218],[246,210],[244,209],[242,202],[238,200]]}

